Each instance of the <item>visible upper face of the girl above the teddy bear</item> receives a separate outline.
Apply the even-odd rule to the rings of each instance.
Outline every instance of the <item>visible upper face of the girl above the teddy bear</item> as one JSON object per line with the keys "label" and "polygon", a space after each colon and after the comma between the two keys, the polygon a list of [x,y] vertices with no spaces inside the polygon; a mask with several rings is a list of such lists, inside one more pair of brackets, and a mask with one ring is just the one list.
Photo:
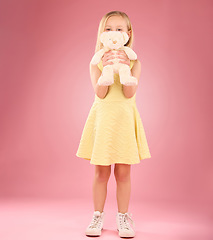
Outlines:
{"label": "visible upper face of the girl above the teddy bear", "polygon": [[128,31],[126,20],[121,16],[111,16],[107,19],[104,32],[108,31],[126,32],[129,37],[131,36],[131,30]]}

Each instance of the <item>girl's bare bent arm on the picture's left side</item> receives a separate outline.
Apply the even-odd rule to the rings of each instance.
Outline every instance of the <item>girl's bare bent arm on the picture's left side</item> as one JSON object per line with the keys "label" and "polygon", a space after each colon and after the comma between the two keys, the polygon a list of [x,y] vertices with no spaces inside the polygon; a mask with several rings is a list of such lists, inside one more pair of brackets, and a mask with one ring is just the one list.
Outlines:
{"label": "girl's bare bent arm on the picture's left side", "polygon": [[90,64],[90,78],[92,82],[95,94],[99,98],[104,98],[108,92],[109,86],[100,86],[97,84],[99,77],[101,76],[101,71],[97,65]]}

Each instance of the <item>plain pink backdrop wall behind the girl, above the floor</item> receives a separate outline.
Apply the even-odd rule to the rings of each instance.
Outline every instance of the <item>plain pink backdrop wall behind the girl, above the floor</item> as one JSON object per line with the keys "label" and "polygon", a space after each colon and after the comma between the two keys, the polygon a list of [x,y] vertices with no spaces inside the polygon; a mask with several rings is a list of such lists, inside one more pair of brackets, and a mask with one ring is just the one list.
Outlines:
{"label": "plain pink backdrop wall behind the girl, above the floor", "polygon": [[[89,61],[98,24],[112,10],[133,25],[142,63],[136,102],[152,156],[132,166],[132,201],[210,206],[207,0],[1,1],[0,197],[91,201],[94,165],[75,153],[94,100]],[[114,202],[113,171],[108,186]]]}

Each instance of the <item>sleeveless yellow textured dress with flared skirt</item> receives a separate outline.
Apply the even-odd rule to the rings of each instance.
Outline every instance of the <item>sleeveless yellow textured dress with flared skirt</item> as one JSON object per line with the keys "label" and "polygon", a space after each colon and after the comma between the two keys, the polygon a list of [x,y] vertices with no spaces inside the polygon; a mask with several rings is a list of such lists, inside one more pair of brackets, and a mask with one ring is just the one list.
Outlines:
{"label": "sleeveless yellow textured dress with flared skirt", "polygon": [[[130,61],[130,68],[134,60]],[[102,61],[98,64],[103,70]],[[94,102],[82,131],[77,157],[90,164],[108,166],[115,163],[136,164],[151,158],[144,127],[138,112],[136,93],[123,94],[119,74],[109,86],[105,98],[95,94]]]}

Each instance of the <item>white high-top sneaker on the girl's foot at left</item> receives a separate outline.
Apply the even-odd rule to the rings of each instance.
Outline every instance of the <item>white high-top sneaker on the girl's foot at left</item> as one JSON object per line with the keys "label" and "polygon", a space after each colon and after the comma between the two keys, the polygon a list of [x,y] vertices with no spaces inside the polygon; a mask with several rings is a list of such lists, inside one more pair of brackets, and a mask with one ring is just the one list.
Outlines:
{"label": "white high-top sneaker on the girl's foot at left", "polygon": [[104,215],[104,211],[102,213],[100,211],[94,211],[92,221],[85,232],[87,236],[101,235],[101,230],[103,229]]}

